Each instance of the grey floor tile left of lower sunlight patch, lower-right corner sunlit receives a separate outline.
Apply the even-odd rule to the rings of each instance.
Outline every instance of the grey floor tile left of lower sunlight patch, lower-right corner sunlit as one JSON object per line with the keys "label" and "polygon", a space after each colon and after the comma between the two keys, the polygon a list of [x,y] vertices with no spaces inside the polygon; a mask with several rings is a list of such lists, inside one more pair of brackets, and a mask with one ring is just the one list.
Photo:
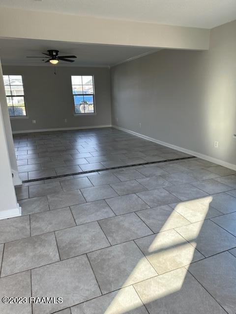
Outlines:
{"label": "grey floor tile left of lower sunlight patch, lower-right corner sunlit", "polygon": [[102,293],[156,275],[155,270],[133,241],[89,253],[88,257]]}

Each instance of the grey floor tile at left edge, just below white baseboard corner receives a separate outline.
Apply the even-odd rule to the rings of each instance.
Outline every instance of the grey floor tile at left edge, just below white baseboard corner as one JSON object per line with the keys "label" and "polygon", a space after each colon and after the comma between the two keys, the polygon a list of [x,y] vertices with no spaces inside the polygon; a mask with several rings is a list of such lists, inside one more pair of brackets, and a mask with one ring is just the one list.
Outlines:
{"label": "grey floor tile at left edge, just below white baseboard corner", "polygon": [[29,216],[0,220],[0,243],[30,236]]}

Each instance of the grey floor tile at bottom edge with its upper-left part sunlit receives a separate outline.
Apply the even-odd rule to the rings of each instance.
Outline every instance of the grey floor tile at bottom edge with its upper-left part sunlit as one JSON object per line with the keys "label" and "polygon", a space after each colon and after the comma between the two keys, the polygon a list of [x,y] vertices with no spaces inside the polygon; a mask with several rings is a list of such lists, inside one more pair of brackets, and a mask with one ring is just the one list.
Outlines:
{"label": "grey floor tile at bottom edge with its upper-left part sunlit", "polygon": [[134,287],[150,314],[226,314],[184,268],[150,278]]}

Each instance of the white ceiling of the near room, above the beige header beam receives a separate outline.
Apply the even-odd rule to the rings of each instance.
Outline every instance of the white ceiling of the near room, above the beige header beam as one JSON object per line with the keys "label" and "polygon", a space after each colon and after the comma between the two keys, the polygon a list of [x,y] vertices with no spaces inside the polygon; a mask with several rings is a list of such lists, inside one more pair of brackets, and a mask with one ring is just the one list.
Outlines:
{"label": "white ceiling of the near room, above the beige header beam", "polygon": [[0,0],[0,6],[201,28],[236,20],[236,0]]}

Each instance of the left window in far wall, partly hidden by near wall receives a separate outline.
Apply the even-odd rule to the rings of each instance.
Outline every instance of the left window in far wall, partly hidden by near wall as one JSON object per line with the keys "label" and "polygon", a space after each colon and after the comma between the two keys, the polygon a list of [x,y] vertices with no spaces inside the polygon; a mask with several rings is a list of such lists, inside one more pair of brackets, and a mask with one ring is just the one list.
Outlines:
{"label": "left window in far wall, partly hidden by near wall", "polygon": [[25,95],[21,75],[3,75],[10,117],[26,116]]}

